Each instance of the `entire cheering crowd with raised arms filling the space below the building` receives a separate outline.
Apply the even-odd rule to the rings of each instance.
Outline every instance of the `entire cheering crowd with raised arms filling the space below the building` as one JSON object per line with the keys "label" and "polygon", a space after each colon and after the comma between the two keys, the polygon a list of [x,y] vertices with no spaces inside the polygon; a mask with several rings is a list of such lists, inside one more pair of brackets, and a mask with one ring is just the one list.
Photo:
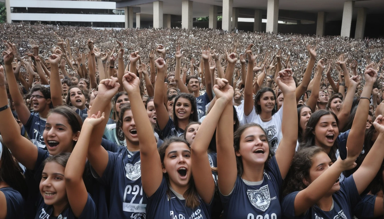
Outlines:
{"label": "entire cheering crowd with raised arms filling the space below the building", "polygon": [[384,215],[384,39],[0,36],[0,219]]}

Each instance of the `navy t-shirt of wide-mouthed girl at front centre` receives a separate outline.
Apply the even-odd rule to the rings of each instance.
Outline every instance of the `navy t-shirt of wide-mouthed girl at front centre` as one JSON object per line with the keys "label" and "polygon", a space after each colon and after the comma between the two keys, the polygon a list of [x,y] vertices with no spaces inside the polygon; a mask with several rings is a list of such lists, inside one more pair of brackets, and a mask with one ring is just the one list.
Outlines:
{"label": "navy t-shirt of wide-mouthed girl at front centre", "polygon": [[168,183],[165,176],[161,181],[156,192],[148,198],[147,203],[147,219],[157,218],[176,218],[176,219],[194,219],[210,218],[210,204],[199,200],[200,205],[194,209],[185,206],[185,199],[170,189],[170,198],[167,195]]}

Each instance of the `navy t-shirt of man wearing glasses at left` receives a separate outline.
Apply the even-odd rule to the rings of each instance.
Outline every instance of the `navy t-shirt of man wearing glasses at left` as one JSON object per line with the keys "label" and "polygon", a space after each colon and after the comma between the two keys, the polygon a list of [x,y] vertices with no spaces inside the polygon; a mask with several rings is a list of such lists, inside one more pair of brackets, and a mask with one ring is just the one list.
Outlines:
{"label": "navy t-shirt of man wearing glasses at left", "polygon": [[42,119],[38,112],[31,113],[28,121],[24,124],[28,137],[33,144],[46,150],[43,138],[46,119]]}

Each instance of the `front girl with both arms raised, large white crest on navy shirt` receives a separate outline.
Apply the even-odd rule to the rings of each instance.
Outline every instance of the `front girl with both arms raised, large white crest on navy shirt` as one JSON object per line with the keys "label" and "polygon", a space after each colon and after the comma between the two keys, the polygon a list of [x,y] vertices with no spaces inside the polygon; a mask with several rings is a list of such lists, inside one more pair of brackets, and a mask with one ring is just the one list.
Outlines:
{"label": "front girl with both arms raised, large white crest on navy shirt", "polygon": [[258,124],[243,125],[232,137],[233,119],[225,116],[232,115],[232,102],[218,122],[217,170],[223,218],[281,218],[280,191],[295,154],[298,117],[292,71],[284,69],[278,74],[276,82],[284,95],[283,137],[275,155],[266,130]]}

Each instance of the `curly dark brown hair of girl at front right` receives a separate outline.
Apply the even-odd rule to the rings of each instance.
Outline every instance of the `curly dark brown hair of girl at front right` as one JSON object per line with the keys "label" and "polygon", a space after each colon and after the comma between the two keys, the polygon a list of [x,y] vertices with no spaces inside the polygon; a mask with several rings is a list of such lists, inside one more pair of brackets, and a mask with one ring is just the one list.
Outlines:
{"label": "curly dark brown hair of girl at front right", "polygon": [[322,147],[313,146],[300,148],[295,156],[293,156],[290,170],[285,178],[283,196],[307,188],[303,179],[309,177],[310,168],[312,166],[312,158],[320,152],[325,153],[325,150]]}

